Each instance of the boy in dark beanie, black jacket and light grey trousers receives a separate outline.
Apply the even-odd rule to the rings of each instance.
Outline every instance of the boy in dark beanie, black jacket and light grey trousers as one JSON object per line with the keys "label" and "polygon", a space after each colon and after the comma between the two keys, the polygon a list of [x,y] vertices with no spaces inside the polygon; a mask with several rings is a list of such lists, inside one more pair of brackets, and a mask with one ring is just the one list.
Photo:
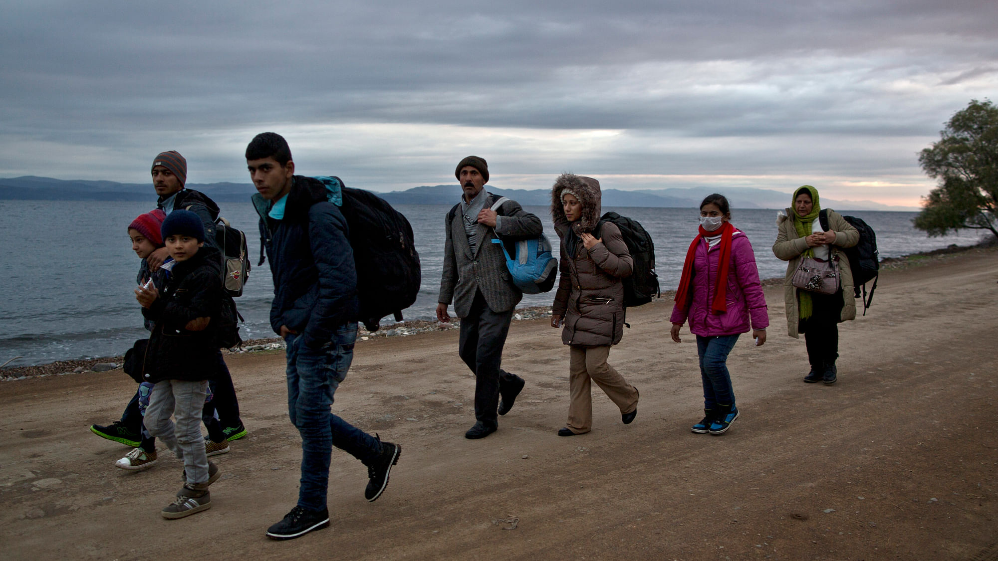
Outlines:
{"label": "boy in dark beanie, black jacket and light grey trousers", "polygon": [[[184,487],[163,509],[164,518],[183,518],[211,508],[208,486],[219,468],[208,461],[201,434],[201,413],[208,379],[217,370],[219,350],[212,319],[222,309],[219,251],[205,245],[198,215],[174,211],[163,221],[163,241],[173,262],[164,265],[167,281],[136,288],[142,313],[155,321],[143,361],[143,378],[153,382],[146,428],[184,461]],[[176,425],[170,416],[177,418]]]}

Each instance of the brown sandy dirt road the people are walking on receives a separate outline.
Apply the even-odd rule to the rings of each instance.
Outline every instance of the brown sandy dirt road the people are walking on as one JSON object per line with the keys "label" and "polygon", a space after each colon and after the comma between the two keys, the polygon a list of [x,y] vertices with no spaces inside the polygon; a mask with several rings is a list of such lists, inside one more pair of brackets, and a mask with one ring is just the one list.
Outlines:
{"label": "brown sandy dirt road the people are walking on", "polygon": [[[694,434],[695,338],[668,336],[667,304],[630,311],[611,361],[641,389],[623,425],[598,390],[594,429],[558,437],[568,350],[519,321],[504,366],[527,386],[482,440],[457,331],[359,342],[334,411],[403,452],[376,502],[365,468],[334,450],[330,528],[263,535],[297,496],[299,438],[283,353],[233,356],[250,436],[213,458],[213,508],[160,509],[180,485],[168,451],[127,472],[127,447],[88,425],[135,389],[120,370],[0,384],[2,559],[998,559],[998,252],[883,273],[873,307],[842,325],[839,381],[805,384],[803,340],[772,326],[729,360],[742,417]],[[186,543],[182,545],[182,540]]]}

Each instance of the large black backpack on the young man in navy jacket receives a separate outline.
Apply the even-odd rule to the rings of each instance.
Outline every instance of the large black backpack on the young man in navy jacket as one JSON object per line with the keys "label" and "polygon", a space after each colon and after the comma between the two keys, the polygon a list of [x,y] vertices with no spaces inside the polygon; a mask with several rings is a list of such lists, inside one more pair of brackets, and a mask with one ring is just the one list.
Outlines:
{"label": "large black backpack on the young man in navy jacket", "polygon": [[395,321],[401,321],[402,310],[412,305],[419,293],[422,277],[412,226],[384,199],[346,187],[339,178],[332,179],[339,182],[343,195],[340,211],[350,230],[359,320],[368,331],[376,331],[385,315],[394,314]]}

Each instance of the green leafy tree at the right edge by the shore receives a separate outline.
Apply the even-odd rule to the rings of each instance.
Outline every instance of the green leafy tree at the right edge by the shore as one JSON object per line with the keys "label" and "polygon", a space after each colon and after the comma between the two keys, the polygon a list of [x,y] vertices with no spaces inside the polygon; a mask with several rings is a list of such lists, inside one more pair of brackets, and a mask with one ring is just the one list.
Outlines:
{"label": "green leafy tree at the right edge by the shore", "polygon": [[998,107],[971,100],[939,135],[918,156],[922,170],[939,184],[923,198],[915,228],[929,236],[971,229],[998,237]]}

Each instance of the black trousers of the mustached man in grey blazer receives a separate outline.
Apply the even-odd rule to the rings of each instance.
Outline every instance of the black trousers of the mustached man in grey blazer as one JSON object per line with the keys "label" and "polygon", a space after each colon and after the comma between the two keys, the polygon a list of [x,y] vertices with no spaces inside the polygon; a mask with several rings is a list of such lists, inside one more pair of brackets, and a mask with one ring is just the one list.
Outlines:
{"label": "black trousers of the mustached man in grey blazer", "polygon": [[498,426],[499,392],[519,379],[500,367],[512,320],[512,309],[492,311],[480,291],[475,292],[471,311],[461,318],[458,354],[475,373],[475,419],[486,426]]}

